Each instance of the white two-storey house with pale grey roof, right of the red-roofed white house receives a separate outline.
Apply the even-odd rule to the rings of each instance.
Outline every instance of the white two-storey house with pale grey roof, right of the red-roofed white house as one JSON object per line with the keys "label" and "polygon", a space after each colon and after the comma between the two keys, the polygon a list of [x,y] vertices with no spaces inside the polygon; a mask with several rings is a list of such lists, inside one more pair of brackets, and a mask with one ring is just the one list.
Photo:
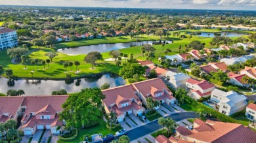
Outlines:
{"label": "white two-storey house with pale grey roof, right of the red-roofed white house", "polygon": [[245,110],[247,106],[246,99],[244,95],[239,95],[234,91],[224,92],[219,89],[214,89],[211,92],[211,101],[217,104],[217,110],[219,110],[219,112],[227,116]]}

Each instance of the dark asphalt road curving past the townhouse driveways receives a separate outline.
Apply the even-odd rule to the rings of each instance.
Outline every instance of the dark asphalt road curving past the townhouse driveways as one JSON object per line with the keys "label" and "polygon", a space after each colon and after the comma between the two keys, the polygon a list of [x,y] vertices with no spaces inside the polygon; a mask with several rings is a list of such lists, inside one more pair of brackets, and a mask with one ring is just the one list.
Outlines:
{"label": "dark asphalt road curving past the townhouse driveways", "polygon": [[[197,118],[198,116],[196,116],[196,112],[180,112],[171,114],[168,117],[173,118],[175,121],[181,121],[182,119]],[[137,138],[140,138],[141,136],[145,136],[155,131],[158,131],[161,128],[161,125],[158,125],[157,119],[155,121],[147,123],[146,125],[142,125],[135,129],[131,129],[130,131],[127,132],[127,136],[129,136],[130,141],[133,141],[136,140]],[[115,136],[115,140],[116,139],[117,137]]]}

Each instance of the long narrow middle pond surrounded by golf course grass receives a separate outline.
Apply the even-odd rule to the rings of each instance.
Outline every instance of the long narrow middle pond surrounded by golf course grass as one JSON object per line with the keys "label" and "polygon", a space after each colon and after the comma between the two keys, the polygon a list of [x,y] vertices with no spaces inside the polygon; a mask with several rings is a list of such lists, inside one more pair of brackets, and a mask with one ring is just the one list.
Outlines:
{"label": "long narrow middle pond surrounded by golf course grass", "polygon": [[[123,48],[129,48],[131,46],[142,46],[144,44],[153,44],[154,41],[142,41],[142,42],[125,42],[125,43],[115,43],[115,44],[96,44],[90,46],[79,46],[76,48],[62,48],[57,51],[63,54],[68,55],[79,55],[79,54],[88,54],[89,52],[108,52],[111,50],[119,50]],[[163,42],[163,40],[161,41]],[[166,40],[165,42],[172,43],[171,41]]]}

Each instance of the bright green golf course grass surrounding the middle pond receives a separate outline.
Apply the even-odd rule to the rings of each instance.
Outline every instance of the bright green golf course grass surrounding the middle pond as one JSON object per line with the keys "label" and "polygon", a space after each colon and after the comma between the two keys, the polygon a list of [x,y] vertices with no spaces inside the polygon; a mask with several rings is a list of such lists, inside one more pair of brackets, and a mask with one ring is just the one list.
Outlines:
{"label": "bright green golf course grass surrounding the middle pond", "polygon": [[[181,32],[181,35],[184,33],[184,31]],[[159,37],[149,36],[147,38],[146,35],[140,35],[140,40],[156,40],[159,39]],[[172,44],[166,44],[164,47],[160,45],[154,45],[154,48],[156,48],[156,56],[162,55],[165,56],[164,50],[166,48],[169,48],[172,50],[171,53],[169,53],[169,56],[179,54],[179,45],[182,46],[182,49],[184,48],[184,44],[189,44],[192,40],[200,40],[201,42],[205,42],[205,47],[209,47],[209,42],[211,41],[211,38],[207,37],[196,37],[193,36],[192,39],[179,39],[176,37],[169,37],[166,40],[172,40]],[[56,44],[56,48],[64,48],[64,47],[76,47],[76,46],[83,46],[83,45],[91,45],[91,44],[102,44],[102,43],[116,43],[116,42],[131,42],[135,41],[135,38],[131,40],[131,37],[112,37],[112,38],[104,38],[104,39],[91,39],[91,40],[81,40],[77,42],[63,42],[60,44]],[[56,49],[55,48],[55,49]],[[123,54],[133,54],[134,58],[137,59],[146,59],[145,57],[142,57],[142,54],[140,52],[140,48],[142,46],[133,46],[131,48],[125,48],[119,50]],[[34,47],[30,48],[30,50],[35,50]],[[12,69],[13,76],[17,78],[41,78],[41,79],[54,79],[54,80],[62,80],[66,78],[66,69],[63,67],[64,62],[69,61],[79,61],[80,66],[79,69],[81,72],[78,74],[75,74],[75,66],[72,67],[72,70],[70,70],[70,67],[68,67],[68,73],[72,74],[72,78],[79,78],[79,77],[85,77],[90,76],[91,74],[98,74],[102,72],[113,72],[118,74],[120,67],[117,67],[114,61],[97,61],[97,65],[95,66],[95,69],[90,69],[91,65],[88,63],[85,63],[83,61],[83,58],[85,55],[78,55],[78,56],[68,56],[66,54],[58,53],[57,57],[54,57],[53,62],[49,64],[49,68],[47,65],[45,65],[45,69],[43,69],[43,65],[41,64],[42,60],[48,59],[47,56],[44,56],[47,52],[52,52],[54,49],[51,48],[41,48],[40,50],[32,51],[28,55],[28,61],[25,63],[27,65],[28,69],[24,69],[24,64],[19,63],[18,65],[14,65],[11,63],[11,58],[7,55],[7,51],[1,51],[0,52],[0,65],[3,65],[4,69]],[[104,59],[110,58],[109,52],[102,53],[102,56]],[[39,59],[38,68],[37,65],[33,66],[30,64],[33,58]],[[124,59],[123,59],[124,61]],[[160,63],[158,60],[154,60],[154,63]],[[33,72],[33,75],[30,74],[31,71]],[[1,73],[3,74],[3,72]],[[3,74],[5,76],[5,74]]]}

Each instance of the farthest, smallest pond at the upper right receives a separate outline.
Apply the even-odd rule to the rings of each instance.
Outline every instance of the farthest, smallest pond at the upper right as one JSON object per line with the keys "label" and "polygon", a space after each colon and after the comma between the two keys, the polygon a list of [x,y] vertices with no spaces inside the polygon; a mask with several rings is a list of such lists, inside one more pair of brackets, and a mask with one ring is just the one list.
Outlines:
{"label": "farthest, smallest pond at the upper right", "polygon": [[[195,32],[196,33],[196,32]],[[200,37],[214,37],[215,33],[212,32],[199,32]],[[241,32],[220,32],[221,36],[226,36],[226,37],[242,37],[244,35],[249,35],[249,33],[241,33]],[[190,35],[190,33],[188,33]],[[219,36],[219,35],[218,35]]]}

